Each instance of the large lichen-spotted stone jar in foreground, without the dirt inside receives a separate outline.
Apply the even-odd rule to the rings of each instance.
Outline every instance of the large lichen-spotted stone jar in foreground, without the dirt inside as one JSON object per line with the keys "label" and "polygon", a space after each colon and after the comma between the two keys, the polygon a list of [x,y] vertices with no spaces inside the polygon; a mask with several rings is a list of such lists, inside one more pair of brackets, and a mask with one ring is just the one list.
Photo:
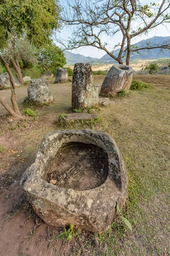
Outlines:
{"label": "large lichen-spotted stone jar in foreground, without the dirt inside", "polygon": [[[75,142],[97,145],[107,153],[108,177],[99,187],[76,191],[45,181],[59,149]],[[116,215],[116,204],[121,209],[127,197],[127,172],[122,154],[108,134],[94,130],[61,130],[47,134],[20,184],[45,223],[57,227],[73,224],[92,232],[107,230]]]}

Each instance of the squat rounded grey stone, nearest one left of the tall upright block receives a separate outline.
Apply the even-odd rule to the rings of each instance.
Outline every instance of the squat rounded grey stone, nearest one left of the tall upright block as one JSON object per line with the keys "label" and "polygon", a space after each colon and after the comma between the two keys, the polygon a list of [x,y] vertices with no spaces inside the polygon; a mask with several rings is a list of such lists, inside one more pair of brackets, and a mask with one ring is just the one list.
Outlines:
{"label": "squat rounded grey stone, nearest one left of the tall upright block", "polygon": [[35,105],[42,105],[53,100],[51,91],[45,79],[31,79],[28,86],[28,99]]}

